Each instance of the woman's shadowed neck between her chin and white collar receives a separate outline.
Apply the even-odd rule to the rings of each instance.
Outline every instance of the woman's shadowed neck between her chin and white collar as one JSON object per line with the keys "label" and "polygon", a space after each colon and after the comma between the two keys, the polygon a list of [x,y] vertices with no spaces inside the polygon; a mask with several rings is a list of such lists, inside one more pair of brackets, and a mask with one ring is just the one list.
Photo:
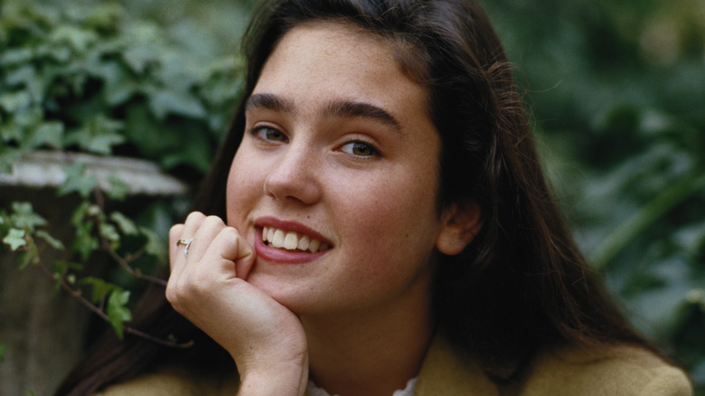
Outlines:
{"label": "woman's shadowed neck between her chin and white collar", "polygon": [[303,316],[312,380],[331,394],[383,395],[416,377],[433,333],[428,297],[396,309]]}

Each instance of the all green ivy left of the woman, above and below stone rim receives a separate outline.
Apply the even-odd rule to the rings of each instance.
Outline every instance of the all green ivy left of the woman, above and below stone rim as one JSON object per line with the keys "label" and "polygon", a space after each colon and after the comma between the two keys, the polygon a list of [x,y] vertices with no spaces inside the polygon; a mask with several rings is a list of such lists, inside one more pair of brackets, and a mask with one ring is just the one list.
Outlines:
{"label": "all green ivy left of the woman, above and below stone rim", "polygon": [[[0,173],[9,173],[28,151],[50,149],[136,156],[187,182],[202,177],[240,97],[242,65],[236,52],[216,42],[210,21],[193,23],[192,17],[217,14],[226,21],[229,15],[192,5],[183,14],[186,23],[174,25],[126,3],[0,2]],[[159,5],[156,13],[174,14],[179,4]],[[216,13],[202,14],[206,9]],[[137,212],[123,205],[133,212],[116,212],[106,208],[127,198],[129,184],[108,176],[101,191],[80,162],[63,171],[58,195],[80,198],[78,206],[66,208],[72,234],[52,236],[38,214],[46,208],[35,212],[29,203],[12,203],[0,208],[0,254],[14,254],[18,269],[38,269],[120,338],[127,332],[183,346],[140,333],[129,322],[130,299],[145,280],[165,283],[149,274],[166,260],[164,238],[183,217],[185,199]],[[59,250],[65,259],[48,262],[47,250]],[[110,260],[111,268],[96,268]],[[0,361],[4,353],[0,344]]]}

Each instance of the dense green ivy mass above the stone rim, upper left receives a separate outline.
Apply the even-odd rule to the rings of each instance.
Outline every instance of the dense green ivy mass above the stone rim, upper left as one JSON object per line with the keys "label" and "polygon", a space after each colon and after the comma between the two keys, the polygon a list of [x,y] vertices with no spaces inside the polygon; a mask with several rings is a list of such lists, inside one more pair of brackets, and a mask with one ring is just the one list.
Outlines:
{"label": "dense green ivy mass above the stone rim, upper left", "polygon": [[187,36],[208,38],[197,25],[170,32],[118,2],[5,2],[0,171],[24,151],[52,148],[204,172],[239,98],[241,66],[232,54],[194,53]]}

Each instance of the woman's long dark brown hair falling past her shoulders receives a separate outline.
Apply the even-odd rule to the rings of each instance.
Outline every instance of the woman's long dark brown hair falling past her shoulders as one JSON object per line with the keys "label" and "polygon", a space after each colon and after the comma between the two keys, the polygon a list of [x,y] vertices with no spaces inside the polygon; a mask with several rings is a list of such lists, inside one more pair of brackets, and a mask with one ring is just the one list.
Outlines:
{"label": "woman's long dark brown hair falling past her shoulders", "polygon": [[[297,24],[353,25],[392,43],[401,69],[428,90],[442,141],[439,208],[478,203],[482,230],[435,278],[437,328],[493,377],[507,379],[540,347],[613,343],[650,348],[578,250],[540,167],[512,70],[472,0],[273,0],[258,6],[243,42],[243,98],[279,39]],[[244,100],[243,100],[244,102]],[[225,184],[244,131],[244,106],[202,184],[194,210],[225,218]],[[194,340],[186,351],[136,337],[100,342],[57,394],[86,394],[164,361],[233,369],[230,356],[150,288],[132,325]]]}

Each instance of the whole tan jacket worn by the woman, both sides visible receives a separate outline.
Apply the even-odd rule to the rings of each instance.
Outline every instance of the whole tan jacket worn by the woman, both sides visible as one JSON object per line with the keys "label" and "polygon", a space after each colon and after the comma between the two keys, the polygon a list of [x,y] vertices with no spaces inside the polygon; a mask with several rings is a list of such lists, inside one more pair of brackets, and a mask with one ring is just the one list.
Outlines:
{"label": "whole tan jacket worn by the woman, both sides visible", "polygon": [[[236,376],[218,378],[169,369],[115,385],[104,396],[225,396],[238,390]],[[522,379],[492,382],[480,367],[464,361],[442,339],[428,350],[418,377],[417,396],[691,396],[680,369],[640,348],[616,346],[608,354],[566,347],[539,354]]]}

